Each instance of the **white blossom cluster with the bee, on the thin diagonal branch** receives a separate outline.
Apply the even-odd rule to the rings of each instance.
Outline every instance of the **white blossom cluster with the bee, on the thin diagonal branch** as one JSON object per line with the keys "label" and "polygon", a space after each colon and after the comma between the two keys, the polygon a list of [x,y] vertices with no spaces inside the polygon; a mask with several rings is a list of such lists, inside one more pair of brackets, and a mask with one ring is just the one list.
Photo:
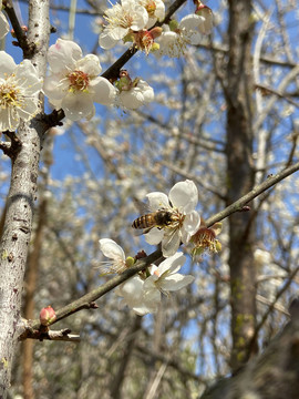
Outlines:
{"label": "white blossom cluster with the bee, on the thin diagonal branch", "polygon": [[[148,244],[161,243],[163,256],[166,258],[159,266],[151,265],[117,287],[116,294],[123,297],[123,304],[132,308],[137,315],[157,311],[162,295],[184,288],[194,280],[190,275],[179,274],[186,257],[177,253],[179,245],[193,244],[193,255],[197,257],[204,250],[217,253],[220,243],[216,236],[220,233],[221,224],[217,223],[208,228],[195,209],[198,192],[194,182],[186,180],[176,183],[168,196],[161,192],[146,195],[151,214],[133,222],[132,227],[145,231]],[[202,223],[202,225],[200,225]],[[112,239],[100,239],[100,248],[111,260],[105,264],[105,272],[122,273],[134,265],[132,257],[125,257],[123,249]]]}

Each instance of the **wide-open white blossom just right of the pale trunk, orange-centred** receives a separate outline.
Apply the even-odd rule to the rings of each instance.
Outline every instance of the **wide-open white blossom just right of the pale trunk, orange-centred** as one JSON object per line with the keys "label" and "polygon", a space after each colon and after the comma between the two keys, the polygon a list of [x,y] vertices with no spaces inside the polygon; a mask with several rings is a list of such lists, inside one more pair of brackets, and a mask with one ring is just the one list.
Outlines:
{"label": "wide-open white blossom just right of the pale trunk, orange-centred", "polygon": [[82,57],[81,48],[71,40],[58,39],[48,51],[50,75],[44,93],[55,109],[63,109],[71,121],[94,115],[94,102],[112,105],[116,90],[106,79],[94,54]]}

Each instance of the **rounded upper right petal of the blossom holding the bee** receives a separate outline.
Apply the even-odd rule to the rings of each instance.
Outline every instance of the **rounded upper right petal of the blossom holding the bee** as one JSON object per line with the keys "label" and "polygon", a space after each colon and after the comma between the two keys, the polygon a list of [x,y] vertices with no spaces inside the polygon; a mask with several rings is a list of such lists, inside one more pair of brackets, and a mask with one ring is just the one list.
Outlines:
{"label": "rounded upper right petal of the blossom holding the bee", "polygon": [[181,212],[190,213],[198,202],[196,185],[189,180],[176,183],[169,192],[169,201]]}

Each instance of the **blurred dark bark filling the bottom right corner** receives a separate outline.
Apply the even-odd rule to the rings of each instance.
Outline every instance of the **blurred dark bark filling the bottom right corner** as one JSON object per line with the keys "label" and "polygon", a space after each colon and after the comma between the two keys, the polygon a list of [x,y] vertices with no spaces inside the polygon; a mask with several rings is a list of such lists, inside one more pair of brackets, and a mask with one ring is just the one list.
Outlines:
{"label": "blurred dark bark filling the bottom right corner", "polygon": [[200,399],[297,399],[298,392],[299,311],[262,355],[235,377],[218,381]]}

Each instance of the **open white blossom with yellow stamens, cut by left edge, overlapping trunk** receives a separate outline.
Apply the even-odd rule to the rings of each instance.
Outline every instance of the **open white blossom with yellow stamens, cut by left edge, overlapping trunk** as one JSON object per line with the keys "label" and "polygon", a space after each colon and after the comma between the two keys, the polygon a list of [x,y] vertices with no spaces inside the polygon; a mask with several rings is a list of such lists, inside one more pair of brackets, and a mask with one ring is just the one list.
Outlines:
{"label": "open white blossom with yellow stamens, cut by left edge, overlapping trunk", "polygon": [[14,131],[20,119],[28,121],[39,110],[38,93],[42,81],[29,60],[17,65],[11,55],[0,51],[0,131]]}

